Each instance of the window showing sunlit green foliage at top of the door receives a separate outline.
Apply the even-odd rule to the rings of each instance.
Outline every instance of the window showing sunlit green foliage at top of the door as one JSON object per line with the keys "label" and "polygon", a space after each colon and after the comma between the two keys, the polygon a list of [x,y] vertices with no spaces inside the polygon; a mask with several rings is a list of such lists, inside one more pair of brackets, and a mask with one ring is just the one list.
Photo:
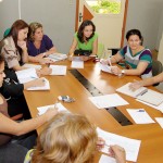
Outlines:
{"label": "window showing sunlit green foliage at top of the door", "polygon": [[86,0],[97,14],[120,14],[121,0]]}

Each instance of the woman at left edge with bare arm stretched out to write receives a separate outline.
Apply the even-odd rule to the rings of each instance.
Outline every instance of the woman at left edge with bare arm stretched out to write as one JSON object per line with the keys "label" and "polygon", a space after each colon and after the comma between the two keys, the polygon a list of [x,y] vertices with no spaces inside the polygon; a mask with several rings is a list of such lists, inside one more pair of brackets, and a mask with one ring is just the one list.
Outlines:
{"label": "woman at left edge with bare arm stretched out to write", "polygon": [[[0,87],[5,76],[3,71],[4,59],[0,55]],[[41,116],[16,123],[9,117],[8,103],[0,93],[0,162],[23,163],[26,152],[35,145],[36,134],[29,131],[50,121],[57,113],[52,109]],[[13,138],[14,135],[17,137]]]}

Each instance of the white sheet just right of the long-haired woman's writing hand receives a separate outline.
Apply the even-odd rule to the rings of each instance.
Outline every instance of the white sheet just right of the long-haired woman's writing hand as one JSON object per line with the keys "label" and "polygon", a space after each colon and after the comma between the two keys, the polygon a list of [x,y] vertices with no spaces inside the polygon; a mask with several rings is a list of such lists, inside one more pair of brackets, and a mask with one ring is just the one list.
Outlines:
{"label": "white sheet just right of the long-haired woman's writing hand", "polygon": [[50,75],[66,75],[66,65],[50,65],[52,73]]}

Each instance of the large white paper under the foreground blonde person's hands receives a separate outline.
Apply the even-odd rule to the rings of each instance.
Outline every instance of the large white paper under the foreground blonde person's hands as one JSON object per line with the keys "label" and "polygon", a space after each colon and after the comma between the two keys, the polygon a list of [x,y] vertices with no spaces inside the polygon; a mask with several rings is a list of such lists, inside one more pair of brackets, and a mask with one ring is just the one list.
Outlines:
{"label": "large white paper under the foreground blonde person's hands", "polygon": [[108,153],[108,146],[118,145],[125,149],[126,160],[137,162],[141,140],[130,139],[116,134],[108,133],[99,127],[97,128],[97,133],[98,137],[103,138],[106,143],[106,146],[104,146],[105,148],[101,150],[102,152]]}

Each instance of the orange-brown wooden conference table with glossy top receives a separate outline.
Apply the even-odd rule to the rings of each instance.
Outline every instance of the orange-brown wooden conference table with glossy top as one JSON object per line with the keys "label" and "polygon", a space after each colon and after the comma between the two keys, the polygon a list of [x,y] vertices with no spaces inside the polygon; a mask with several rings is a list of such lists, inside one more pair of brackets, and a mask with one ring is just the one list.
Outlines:
{"label": "orange-brown wooden conference table with glossy top", "polygon": [[[55,62],[57,65],[67,65],[64,76],[46,76],[50,82],[50,90],[28,91],[25,90],[25,99],[28,104],[32,117],[38,114],[37,108],[54,104],[59,96],[70,96],[75,102],[62,104],[72,113],[83,114],[90,122],[101,129],[117,134],[131,139],[141,140],[137,163],[162,163],[163,162],[163,129],[158,123],[136,124],[127,113],[126,109],[145,109],[154,120],[162,117],[163,114],[134,98],[118,93],[129,104],[116,106],[118,113],[122,113],[131,124],[121,124],[108,110],[97,109],[88,99],[92,96],[114,93],[115,89],[134,79],[140,79],[138,76],[115,76],[113,74],[101,72],[97,62],[87,61],[84,68],[71,68],[71,61],[64,60]],[[153,87],[149,87],[154,89]],[[37,129],[38,134],[43,128]],[[133,147],[130,147],[133,148]],[[95,163],[98,162],[101,153],[97,152]]]}

